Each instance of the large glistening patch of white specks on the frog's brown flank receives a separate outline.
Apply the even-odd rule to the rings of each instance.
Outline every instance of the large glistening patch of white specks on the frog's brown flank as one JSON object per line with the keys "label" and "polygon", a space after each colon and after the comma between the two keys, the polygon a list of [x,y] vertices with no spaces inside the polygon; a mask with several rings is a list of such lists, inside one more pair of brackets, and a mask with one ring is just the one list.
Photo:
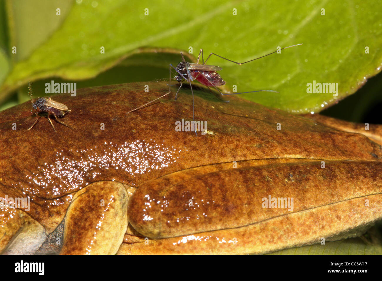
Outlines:
{"label": "large glistening patch of white specks on the frog's brown flank", "polygon": [[[107,145],[105,142],[105,145],[98,145],[97,149],[80,149],[77,156],[63,157],[57,153],[54,165],[45,163],[38,168],[38,172],[26,175],[28,186],[16,184],[13,187],[26,193],[32,201],[36,196],[46,197],[46,194],[62,196],[49,202],[49,205],[58,206],[68,200],[64,195],[85,187],[88,182],[99,177],[102,171],[115,169],[119,171],[118,174],[125,174],[126,180],[133,180],[138,174],[175,164],[176,159],[181,157],[182,149],[187,150],[185,147],[159,145],[155,141],[137,140],[122,145]],[[58,167],[57,162],[60,164]]]}

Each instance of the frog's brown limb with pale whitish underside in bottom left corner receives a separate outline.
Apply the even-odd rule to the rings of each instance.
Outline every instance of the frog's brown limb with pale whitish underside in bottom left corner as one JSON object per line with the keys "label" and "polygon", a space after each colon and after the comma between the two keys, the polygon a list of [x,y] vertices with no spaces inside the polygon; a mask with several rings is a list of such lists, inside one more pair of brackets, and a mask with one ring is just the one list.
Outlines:
{"label": "frog's brown limb with pale whitish underside in bottom left corner", "polygon": [[0,208],[0,253],[31,255],[46,239],[45,229],[26,212]]}

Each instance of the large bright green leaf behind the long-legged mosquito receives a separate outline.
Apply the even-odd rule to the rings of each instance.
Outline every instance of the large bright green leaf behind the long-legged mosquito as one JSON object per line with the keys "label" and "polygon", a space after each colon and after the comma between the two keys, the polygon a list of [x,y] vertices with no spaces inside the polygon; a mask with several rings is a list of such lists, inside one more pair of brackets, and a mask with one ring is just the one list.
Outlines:
{"label": "large bright green leaf behind the long-legged mosquito", "polygon": [[[0,101],[28,80],[93,78],[141,53],[138,48],[144,46],[185,52],[193,47],[194,55],[203,48],[204,58],[214,52],[243,62],[273,52],[278,46],[303,43],[241,66],[215,56],[208,63],[223,68],[219,74],[227,81],[228,90],[236,85],[238,92],[279,92],[243,94],[247,99],[295,113],[317,112],[354,93],[366,78],[381,70],[380,6],[380,1],[372,0],[289,0],[283,5],[277,0],[216,0],[209,5],[200,0],[176,5],[165,0],[77,0],[60,28],[16,63],[0,86]],[[147,16],[145,8],[149,9]],[[322,8],[325,15],[321,15]],[[39,15],[29,16],[32,21]],[[105,47],[105,54],[100,53],[101,47]],[[369,54],[365,54],[365,47],[369,47]],[[171,63],[180,60],[178,56]],[[147,61],[143,57],[142,65]],[[168,62],[163,60],[166,67]],[[134,68],[126,70],[126,77],[134,75]],[[307,93],[306,85],[313,81],[338,83],[338,96]]]}

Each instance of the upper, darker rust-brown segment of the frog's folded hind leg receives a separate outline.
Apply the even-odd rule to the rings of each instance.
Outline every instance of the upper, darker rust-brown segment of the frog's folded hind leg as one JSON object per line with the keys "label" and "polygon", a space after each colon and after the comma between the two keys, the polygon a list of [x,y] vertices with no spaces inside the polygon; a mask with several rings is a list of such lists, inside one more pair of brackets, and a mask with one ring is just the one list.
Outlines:
{"label": "upper, darker rust-brown segment of the frog's folded hind leg", "polygon": [[[129,222],[158,239],[247,226],[311,208],[320,212],[325,205],[382,194],[379,162],[326,161],[325,168],[307,159],[262,162],[237,162],[237,168],[217,164],[153,180],[129,201]],[[262,198],[269,195],[293,198],[293,210],[284,201],[284,208],[263,208]]]}

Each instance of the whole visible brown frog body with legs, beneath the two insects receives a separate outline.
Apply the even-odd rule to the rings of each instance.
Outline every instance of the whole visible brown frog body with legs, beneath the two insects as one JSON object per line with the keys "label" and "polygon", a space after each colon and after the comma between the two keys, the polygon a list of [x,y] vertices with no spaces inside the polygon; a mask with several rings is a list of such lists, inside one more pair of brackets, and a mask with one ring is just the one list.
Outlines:
{"label": "whole visible brown frog body with legs, beneath the two insects", "polygon": [[[176,132],[192,120],[189,89],[126,114],[165,93],[145,84],[55,96],[72,127],[57,133],[44,118],[27,130],[28,102],[0,112],[0,197],[31,198],[0,209],[2,253],[269,253],[382,218],[382,151],[365,135],[204,89],[207,133]],[[293,210],[263,208],[269,196]]]}

